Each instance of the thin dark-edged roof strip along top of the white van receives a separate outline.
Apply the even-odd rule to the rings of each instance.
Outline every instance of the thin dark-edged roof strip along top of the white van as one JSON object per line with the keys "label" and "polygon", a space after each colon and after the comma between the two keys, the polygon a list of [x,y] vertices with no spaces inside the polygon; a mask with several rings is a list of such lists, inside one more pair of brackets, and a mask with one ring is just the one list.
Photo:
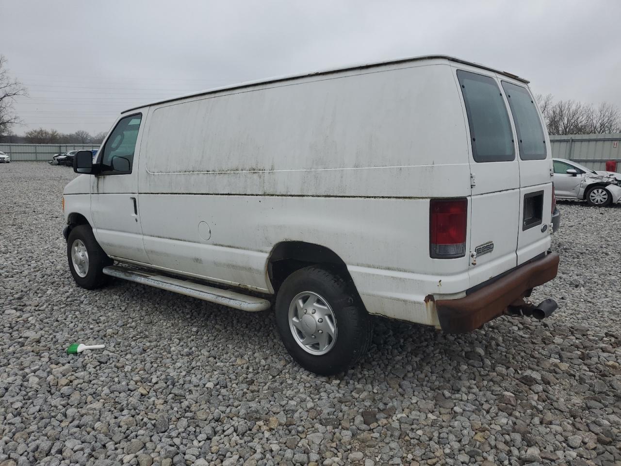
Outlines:
{"label": "thin dark-edged roof strip along top of the white van", "polygon": [[332,73],[339,73],[340,71],[349,71],[349,70],[364,70],[365,68],[373,68],[374,66],[383,66],[383,65],[393,65],[395,63],[406,63],[406,62],[419,62],[422,60],[434,60],[434,59],[442,59],[448,60],[450,62],[463,63],[464,65],[476,66],[476,68],[481,68],[481,70],[492,71],[494,73],[499,73],[501,75],[508,76],[509,78],[513,78],[514,80],[522,81],[522,83],[528,84],[529,81],[524,78],[520,78],[520,76],[516,76],[512,73],[508,73],[507,71],[496,70],[496,68],[490,68],[489,66],[481,65],[481,63],[468,62],[467,60],[461,60],[460,58],[451,57],[450,55],[422,55],[420,57],[409,57],[409,58],[398,58],[396,60],[386,60],[384,62],[373,62],[373,63],[359,63],[357,65],[347,65],[342,68],[329,68],[327,70],[313,71],[312,73],[302,73],[300,75],[287,75],[287,76],[279,76],[276,78],[268,78],[265,80],[256,80],[256,81],[247,81],[245,83],[238,83],[229,86],[220,86],[219,88],[207,89],[205,91],[198,91],[190,94],[184,94],[182,96],[173,97],[170,99],[163,99],[159,101],[155,101],[149,104],[140,105],[137,107],[132,107],[125,111],[122,111],[121,114],[130,112],[135,109],[139,109],[142,107],[148,107],[155,104],[163,104],[166,102],[173,102],[180,99],[186,99],[189,97],[202,96],[206,94],[216,93],[220,91],[226,91],[230,89],[240,89],[246,88],[250,86],[256,86],[260,84],[269,84],[269,83],[277,83],[278,81],[289,81],[296,80],[299,78],[306,78],[307,76],[318,76],[318,75],[330,75]]}

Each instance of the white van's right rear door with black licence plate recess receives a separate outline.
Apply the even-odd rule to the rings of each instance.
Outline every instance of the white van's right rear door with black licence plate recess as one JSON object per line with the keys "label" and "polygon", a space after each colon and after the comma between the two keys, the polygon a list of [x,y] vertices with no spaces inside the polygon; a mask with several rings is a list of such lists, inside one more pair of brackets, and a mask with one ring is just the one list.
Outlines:
{"label": "white van's right rear door with black licence plate recess", "polygon": [[520,228],[517,263],[522,264],[550,247],[552,184],[550,142],[543,121],[527,86],[498,76],[509,102],[515,126],[520,164]]}

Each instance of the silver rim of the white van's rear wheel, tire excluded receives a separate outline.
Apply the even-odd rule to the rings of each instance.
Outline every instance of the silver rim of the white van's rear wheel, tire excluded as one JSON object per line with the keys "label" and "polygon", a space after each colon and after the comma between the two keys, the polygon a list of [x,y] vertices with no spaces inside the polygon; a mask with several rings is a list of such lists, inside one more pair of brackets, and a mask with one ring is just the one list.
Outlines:
{"label": "silver rim of the white van's rear wheel, tire excluded", "polygon": [[337,319],[330,304],[313,291],[298,293],[289,305],[289,329],[307,353],[322,355],[337,341]]}

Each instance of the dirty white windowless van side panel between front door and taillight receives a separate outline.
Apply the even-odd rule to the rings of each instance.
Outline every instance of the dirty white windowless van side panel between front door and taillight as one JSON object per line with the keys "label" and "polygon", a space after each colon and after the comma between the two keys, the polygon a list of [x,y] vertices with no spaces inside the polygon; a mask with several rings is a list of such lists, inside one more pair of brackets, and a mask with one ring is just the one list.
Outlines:
{"label": "dirty white windowless van side panel between front door and taillight", "polygon": [[369,312],[424,324],[437,324],[425,296],[468,288],[468,257],[429,257],[429,198],[470,194],[445,62],[161,104],[145,134],[140,216],[156,267],[271,291],[271,249],[310,242],[343,259]]}

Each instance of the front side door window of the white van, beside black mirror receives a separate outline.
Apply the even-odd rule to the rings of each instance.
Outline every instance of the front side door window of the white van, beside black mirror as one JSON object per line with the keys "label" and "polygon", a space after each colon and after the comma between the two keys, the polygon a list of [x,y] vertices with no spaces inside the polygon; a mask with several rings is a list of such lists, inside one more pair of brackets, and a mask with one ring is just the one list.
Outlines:
{"label": "front side door window of the white van, beside black mirror", "polygon": [[142,114],[122,118],[114,127],[101,150],[101,175],[127,175],[132,173],[134,150]]}

